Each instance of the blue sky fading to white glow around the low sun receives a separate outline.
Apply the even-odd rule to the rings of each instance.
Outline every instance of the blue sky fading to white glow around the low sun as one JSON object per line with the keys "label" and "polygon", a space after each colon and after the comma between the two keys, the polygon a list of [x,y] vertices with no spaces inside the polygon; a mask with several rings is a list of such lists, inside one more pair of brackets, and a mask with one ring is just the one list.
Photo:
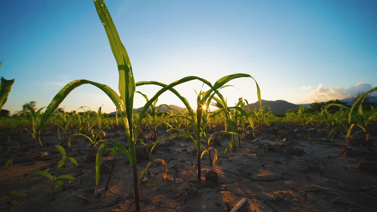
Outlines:
{"label": "blue sky fading to white glow around the low sun", "polygon": [[[377,85],[376,1],[107,1],[135,81],[170,83],[188,75],[215,82],[252,75],[265,100],[310,103],[350,97]],[[0,7],[0,75],[15,78],[3,109],[47,106],[69,81],[118,88],[118,70],[92,1],[6,1]],[[231,81],[228,103],[257,100],[250,79]],[[195,106],[199,82],[177,89]],[[356,90],[355,90],[356,89]],[[158,88],[140,89],[151,97]],[[358,90],[357,90],[358,91]],[[135,94],[134,107],[145,100]],[[183,106],[166,93],[159,103]],[[111,112],[99,89],[83,85],[63,101]]]}

